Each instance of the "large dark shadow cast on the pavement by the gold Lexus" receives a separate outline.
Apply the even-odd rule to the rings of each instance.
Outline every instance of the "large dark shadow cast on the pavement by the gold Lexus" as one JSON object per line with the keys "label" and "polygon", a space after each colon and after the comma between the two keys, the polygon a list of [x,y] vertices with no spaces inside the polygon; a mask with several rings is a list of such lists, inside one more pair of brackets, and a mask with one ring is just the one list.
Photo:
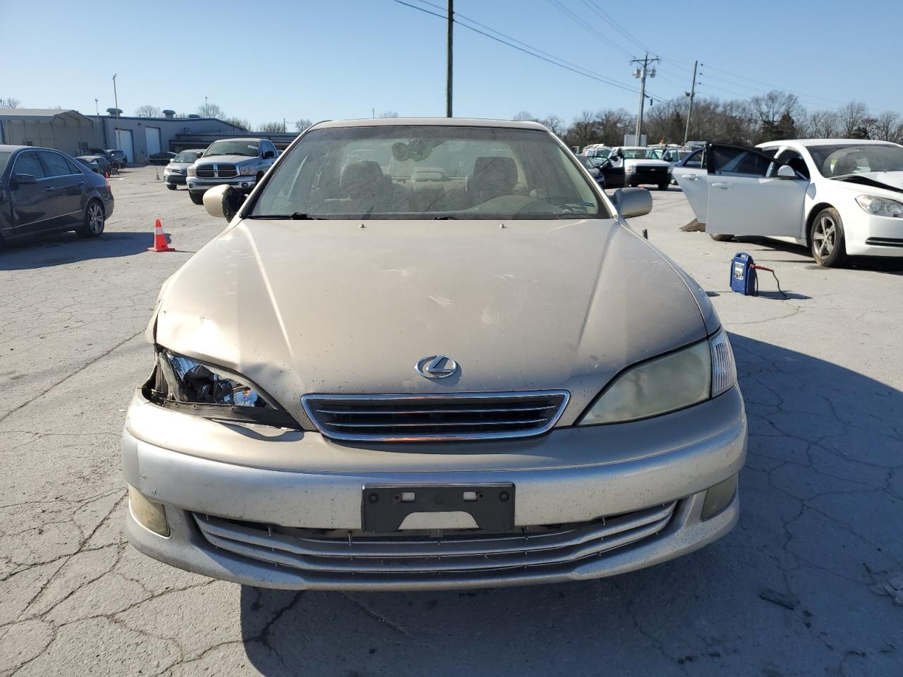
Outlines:
{"label": "large dark shadow cast on the pavement by the gold Lexus", "polygon": [[611,579],[531,588],[245,587],[250,663],[271,676],[897,673],[903,608],[871,588],[903,574],[903,394],[731,341],[749,459],[740,524],[721,541]]}

